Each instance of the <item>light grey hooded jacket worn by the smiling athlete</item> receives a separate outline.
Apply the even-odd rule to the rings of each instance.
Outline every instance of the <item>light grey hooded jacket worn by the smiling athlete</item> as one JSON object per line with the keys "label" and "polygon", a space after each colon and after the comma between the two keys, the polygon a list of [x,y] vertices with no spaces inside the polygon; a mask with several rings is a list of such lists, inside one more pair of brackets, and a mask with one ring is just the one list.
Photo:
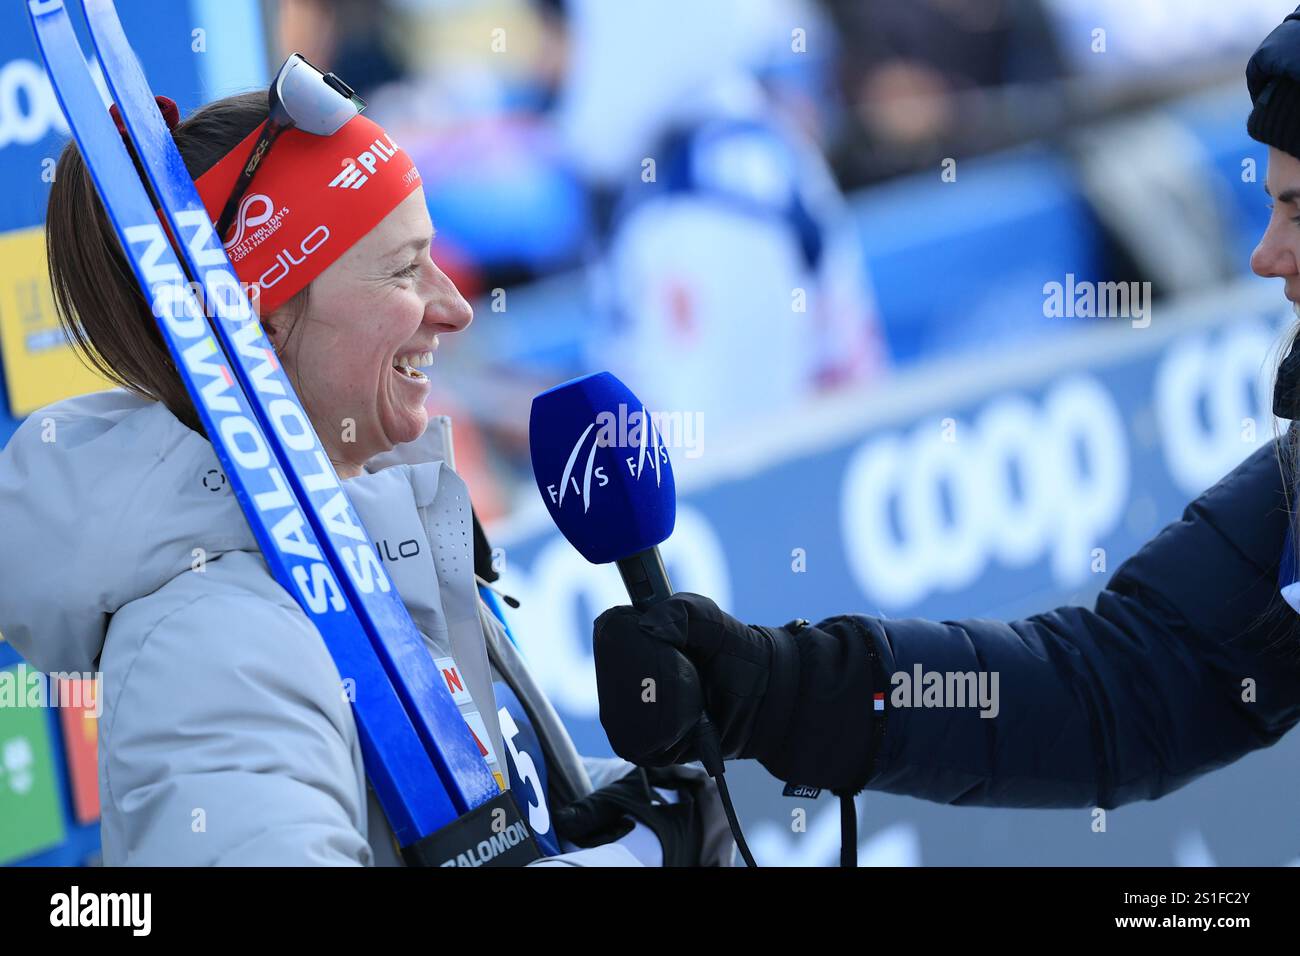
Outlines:
{"label": "light grey hooded jacket worn by the smiling athlete", "polygon": [[[386,567],[430,653],[455,657],[495,753],[504,678],[541,724],[552,790],[616,779],[629,765],[577,757],[478,600],[443,441],[430,425],[348,497],[377,542],[420,542]],[[203,436],[122,390],[48,406],[0,453],[0,633],[43,671],[103,672],[105,865],[400,865],[338,670]],[[637,865],[634,845],[551,860]]]}

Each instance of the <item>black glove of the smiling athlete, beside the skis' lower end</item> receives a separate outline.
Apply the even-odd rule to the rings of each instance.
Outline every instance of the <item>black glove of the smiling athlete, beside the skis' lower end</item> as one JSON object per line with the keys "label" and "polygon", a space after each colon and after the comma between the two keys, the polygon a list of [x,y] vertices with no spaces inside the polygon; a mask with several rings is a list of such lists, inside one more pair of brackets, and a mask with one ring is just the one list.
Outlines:
{"label": "black glove of the smiling athlete, beside the skis' lower end", "polygon": [[629,834],[633,819],[638,819],[659,838],[664,866],[699,866],[703,847],[699,795],[690,787],[681,787],[677,803],[668,804],[654,792],[655,786],[676,788],[679,784],[680,780],[662,771],[637,767],[556,810],[552,816],[555,832],[578,847],[599,847]]}

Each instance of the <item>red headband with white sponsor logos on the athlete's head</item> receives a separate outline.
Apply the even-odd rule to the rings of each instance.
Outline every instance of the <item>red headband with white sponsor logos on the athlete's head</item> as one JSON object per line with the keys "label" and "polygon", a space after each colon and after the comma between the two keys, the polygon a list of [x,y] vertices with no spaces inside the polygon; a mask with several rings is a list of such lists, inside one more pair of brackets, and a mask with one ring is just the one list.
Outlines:
{"label": "red headband with white sponsor logos on the athlete's head", "polygon": [[[216,221],[259,126],[195,185]],[[280,135],[239,203],[226,252],[259,313],[276,311],[369,233],[420,185],[393,137],[364,116],[338,133]],[[256,286],[256,289],[254,289]]]}

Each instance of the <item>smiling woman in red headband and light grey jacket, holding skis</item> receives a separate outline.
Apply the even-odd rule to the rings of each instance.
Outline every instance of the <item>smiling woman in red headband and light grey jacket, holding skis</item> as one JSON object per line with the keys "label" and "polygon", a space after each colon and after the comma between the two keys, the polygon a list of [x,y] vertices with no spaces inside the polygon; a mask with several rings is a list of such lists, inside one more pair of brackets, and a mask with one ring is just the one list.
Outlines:
{"label": "smiling woman in red headband and light grey jacket, holding skis", "polygon": [[[159,103],[367,531],[416,542],[387,571],[549,861],[729,864],[712,783],[580,758],[478,598],[420,371],[472,311],[430,258],[411,159],[296,56],[270,95],[183,122]],[[338,670],[266,570],[74,144],[47,237],[60,319],[120,388],[35,412],[0,453],[0,632],[40,670],[103,672],[104,862],[399,864]]]}

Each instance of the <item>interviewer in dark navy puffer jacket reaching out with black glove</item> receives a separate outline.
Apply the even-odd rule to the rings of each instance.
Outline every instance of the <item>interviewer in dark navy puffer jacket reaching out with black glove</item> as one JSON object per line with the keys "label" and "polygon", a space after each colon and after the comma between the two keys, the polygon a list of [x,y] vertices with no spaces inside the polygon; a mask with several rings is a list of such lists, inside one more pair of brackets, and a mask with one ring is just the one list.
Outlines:
{"label": "interviewer in dark navy puffer jacket reaching out with black glove", "polygon": [[[1251,265],[1300,303],[1300,10],[1254,53],[1247,79],[1248,130],[1270,147],[1275,204]],[[1292,347],[1274,397],[1287,419],[1300,418],[1296,365]],[[1093,610],[764,628],[698,594],[644,615],[615,607],[595,622],[601,721],[620,756],[668,765],[699,756],[692,732],[707,710],[725,757],[838,793],[988,806],[1160,797],[1300,721],[1300,614],[1279,596],[1295,457],[1292,427],[1124,562]],[[890,706],[890,676],[914,665],[996,672],[996,717]]]}

